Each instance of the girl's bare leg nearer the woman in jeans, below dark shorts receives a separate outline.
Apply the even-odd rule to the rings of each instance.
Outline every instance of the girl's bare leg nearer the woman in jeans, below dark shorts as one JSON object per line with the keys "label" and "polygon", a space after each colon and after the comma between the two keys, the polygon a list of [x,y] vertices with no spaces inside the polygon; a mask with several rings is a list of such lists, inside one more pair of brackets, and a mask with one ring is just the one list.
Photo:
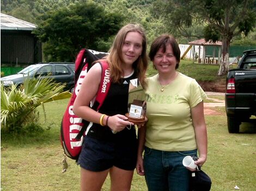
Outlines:
{"label": "girl's bare leg nearer the woman in jeans, below dark shorts", "polygon": [[109,170],[111,191],[129,191],[131,189],[133,170],[112,167]]}

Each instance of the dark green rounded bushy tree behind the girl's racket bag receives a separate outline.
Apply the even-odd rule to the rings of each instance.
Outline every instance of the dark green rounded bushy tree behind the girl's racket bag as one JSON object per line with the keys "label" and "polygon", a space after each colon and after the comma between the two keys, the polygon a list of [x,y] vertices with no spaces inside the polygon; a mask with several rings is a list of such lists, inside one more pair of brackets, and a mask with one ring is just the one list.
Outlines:
{"label": "dark green rounded bushy tree behind the girl's racket bag", "polygon": [[107,51],[108,44],[102,41],[116,34],[123,22],[118,12],[108,12],[92,1],[49,11],[41,19],[34,33],[45,43],[47,61],[75,61],[84,47]]}

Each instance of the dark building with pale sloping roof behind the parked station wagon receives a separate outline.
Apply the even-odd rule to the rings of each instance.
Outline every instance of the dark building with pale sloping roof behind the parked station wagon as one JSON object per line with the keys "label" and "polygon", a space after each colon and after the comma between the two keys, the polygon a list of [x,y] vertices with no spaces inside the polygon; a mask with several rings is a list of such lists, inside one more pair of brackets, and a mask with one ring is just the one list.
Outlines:
{"label": "dark building with pale sloping roof behind the parked station wagon", "polygon": [[25,67],[42,61],[41,42],[32,34],[35,24],[1,13],[1,66]]}

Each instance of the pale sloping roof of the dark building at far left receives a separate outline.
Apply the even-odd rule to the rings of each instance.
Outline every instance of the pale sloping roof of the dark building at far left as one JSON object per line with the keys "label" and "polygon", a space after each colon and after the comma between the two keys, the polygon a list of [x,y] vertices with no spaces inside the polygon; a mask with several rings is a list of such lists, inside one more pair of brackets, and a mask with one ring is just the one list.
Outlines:
{"label": "pale sloping roof of the dark building at far left", "polygon": [[1,29],[4,30],[34,30],[37,26],[19,18],[1,13]]}

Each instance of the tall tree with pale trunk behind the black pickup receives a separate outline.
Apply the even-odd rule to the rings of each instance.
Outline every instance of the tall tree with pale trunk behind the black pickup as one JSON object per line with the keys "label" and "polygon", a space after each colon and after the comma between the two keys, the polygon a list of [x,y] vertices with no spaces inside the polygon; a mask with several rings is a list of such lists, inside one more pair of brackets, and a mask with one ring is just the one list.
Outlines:
{"label": "tall tree with pale trunk behind the black pickup", "polygon": [[255,0],[171,0],[155,2],[156,14],[164,18],[169,28],[180,31],[194,23],[203,23],[206,40],[222,41],[222,60],[218,75],[229,70],[231,39],[248,35],[256,23]]}

